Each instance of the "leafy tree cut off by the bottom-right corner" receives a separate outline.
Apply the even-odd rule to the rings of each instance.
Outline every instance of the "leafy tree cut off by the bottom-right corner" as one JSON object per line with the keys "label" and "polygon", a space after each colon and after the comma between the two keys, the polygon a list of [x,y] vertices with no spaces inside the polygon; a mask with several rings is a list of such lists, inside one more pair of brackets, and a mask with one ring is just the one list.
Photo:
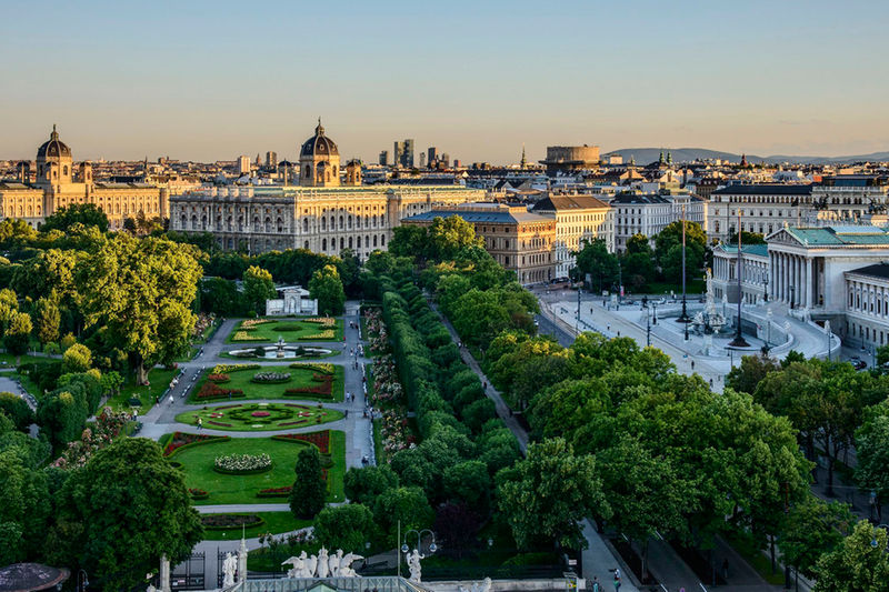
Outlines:
{"label": "leafy tree cut off by the bottom-right corner", "polygon": [[815,592],[886,592],[889,588],[889,553],[886,531],[867,520],[852,534],[818,560]]}

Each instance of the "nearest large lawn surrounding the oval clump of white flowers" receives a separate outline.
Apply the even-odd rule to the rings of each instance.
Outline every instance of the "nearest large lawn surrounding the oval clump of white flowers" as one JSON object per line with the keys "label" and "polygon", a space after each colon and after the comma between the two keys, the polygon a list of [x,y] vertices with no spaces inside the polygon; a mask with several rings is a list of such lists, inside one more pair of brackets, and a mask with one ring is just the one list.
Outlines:
{"label": "nearest large lawn surrounding the oval clump of white flowers", "polygon": [[[293,466],[297,455],[306,442],[272,440],[271,438],[232,438],[228,441],[187,446],[174,452],[171,460],[182,463],[188,488],[201,489],[210,495],[194,500],[196,505],[232,503],[287,503],[287,498],[257,498],[267,488],[293,484]],[[330,450],[333,466],[328,469],[331,488],[328,501],[343,501],[342,478],[346,473],[346,433],[330,432]],[[227,454],[260,454],[271,456],[270,471],[249,475],[230,475],[213,470],[213,460]]]}

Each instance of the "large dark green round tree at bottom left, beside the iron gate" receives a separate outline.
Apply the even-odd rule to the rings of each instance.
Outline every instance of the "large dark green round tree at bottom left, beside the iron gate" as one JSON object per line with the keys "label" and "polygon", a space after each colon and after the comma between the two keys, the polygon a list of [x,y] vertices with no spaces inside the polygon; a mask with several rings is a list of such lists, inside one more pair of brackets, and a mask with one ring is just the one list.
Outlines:
{"label": "large dark green round tree at bottom left, beside the iron gate", "polygon": [[162,555],[186,559],[202,538],[182,472],[157,442],[123,438],[69,475],[46,549],[102,590],[124,591],[144,585]]}

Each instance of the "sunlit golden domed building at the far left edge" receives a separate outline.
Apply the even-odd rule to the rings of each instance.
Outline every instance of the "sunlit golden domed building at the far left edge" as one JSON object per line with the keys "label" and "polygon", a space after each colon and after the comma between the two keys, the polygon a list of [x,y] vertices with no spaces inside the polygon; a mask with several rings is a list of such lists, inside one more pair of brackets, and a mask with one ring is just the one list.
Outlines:
{"label": "sunlit golden domed building at the far left edge", "polygon": [[96,204],[108,215],[111,229],[122,228],[124,219],[136,218],[139,212],[149,219],[169,215],[166,188],[94,182],[90,162],[74,164],[71,149],[59,139],[56,126],[49,140],[37,149],[34,165],[32,171],[30,162],[21,162],[18,182],[0,181],[2,218],[19,218],[40,228],[59,208],[80,203]]}

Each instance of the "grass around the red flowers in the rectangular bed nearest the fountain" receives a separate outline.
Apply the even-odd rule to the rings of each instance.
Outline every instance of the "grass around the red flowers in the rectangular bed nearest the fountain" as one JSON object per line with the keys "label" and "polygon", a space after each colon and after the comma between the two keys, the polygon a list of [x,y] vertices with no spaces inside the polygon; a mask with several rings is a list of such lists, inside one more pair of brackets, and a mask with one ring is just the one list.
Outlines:
{"label": "grass around the red flowers in the rectangular bed nearest the fountain", "polygon": [[[250,363],[249,361],[241,362],[241,363]],[[203,383],[207,382],[207,374],[212,372],[212,369],[208,369],[200,379],[198,379],[198,383],[191,389],[189,393],[189,403],[193,404],[201,404],[201,403],[210,403],[210,402],[222,402],[222,400],[216,401],[200,401],[196,398],[197,393],[203,387]],[[253,374],[257,372],[290,372],[290,381],[289,382],[281,382],[277,384],[269,384],[269,383],[258,383],[251,382]],[[343,395],[343,369],[341,365],[333,367],[333,389],[332,389],[332,398],[326,399],[323,397],[317,394],[296,394],[292,397],[284,397],[284,391],[287,389],[297,389],[302,387],[317,387],[320,383],[312,380],[312,374],[314,374],[313,370],[304,369],[304,368],[290,368],[289,365],[263,365],[260,369],[250,369],[250,370],[236,370],[233,372],[228,372],[231,380],[229,382],[221,383],[220,387],[223,389],[240,389],[243,391],[244,397],[239,397],[233,399],[234,402],[240,402],[249,399],[288,399],[293,401],[322,401],[322,402],[337,402],[342,401]],[[169,380],[167,381],[169,382]]]}

